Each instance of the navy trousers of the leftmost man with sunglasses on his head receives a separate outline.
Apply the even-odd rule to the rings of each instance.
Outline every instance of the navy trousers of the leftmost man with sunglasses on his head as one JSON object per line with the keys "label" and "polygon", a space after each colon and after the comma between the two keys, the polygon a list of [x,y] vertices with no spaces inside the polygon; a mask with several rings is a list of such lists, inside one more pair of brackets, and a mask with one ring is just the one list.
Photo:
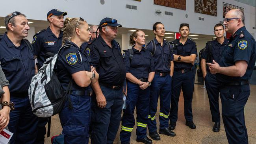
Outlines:
{"label": "navy trousers of the leftmost man with sunglasses on his head", "polygon": [[37,137],[37,116],[32,113],[28,96],[18,98],[11,95],[15,110],[10,113],[9,131],[13,133],[10,144],[34,144]]}

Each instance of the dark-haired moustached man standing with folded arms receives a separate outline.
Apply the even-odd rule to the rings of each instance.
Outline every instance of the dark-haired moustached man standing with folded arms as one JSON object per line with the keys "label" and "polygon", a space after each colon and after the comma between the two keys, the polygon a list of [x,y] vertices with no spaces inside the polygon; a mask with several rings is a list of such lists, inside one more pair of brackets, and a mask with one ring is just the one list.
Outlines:
{"label": "dark-haired moustached man standing with folded arms", "polygon": [[173,41],[174,73],[173,73],[173,96],[170,109],[171,130],[175,129],[178,120],[178,102],[180,90],[184,97],[184,113],[186,126],[195,129],[192,115],[192,98],[194,92],[194,73],[192,66],[197,57],[197,46],[194,41],[188,39],[189,24],[180,24],[180,39]]}

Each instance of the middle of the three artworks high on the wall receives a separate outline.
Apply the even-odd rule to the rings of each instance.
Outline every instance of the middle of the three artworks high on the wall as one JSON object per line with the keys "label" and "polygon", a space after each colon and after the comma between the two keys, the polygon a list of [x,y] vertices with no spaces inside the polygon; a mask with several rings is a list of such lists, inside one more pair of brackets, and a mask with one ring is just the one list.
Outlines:
{"label": "middle of the three artworks high on the wall", "polygon": [[217,17],[217,0],[195,0],[195,13]]}

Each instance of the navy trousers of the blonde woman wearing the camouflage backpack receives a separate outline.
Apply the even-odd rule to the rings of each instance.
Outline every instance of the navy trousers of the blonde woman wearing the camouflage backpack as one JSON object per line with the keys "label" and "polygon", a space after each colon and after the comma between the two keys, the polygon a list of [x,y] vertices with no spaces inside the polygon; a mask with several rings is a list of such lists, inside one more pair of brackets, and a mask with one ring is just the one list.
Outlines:
{"label": "navy trousers of the blonde woman wearing the camouflage backpack", "polygon": [[91,97],[86,93],[78,95],[76,90],[72,90],[72,93],[67,95],[65,106],[59,113],[65,144],[89,143]]}

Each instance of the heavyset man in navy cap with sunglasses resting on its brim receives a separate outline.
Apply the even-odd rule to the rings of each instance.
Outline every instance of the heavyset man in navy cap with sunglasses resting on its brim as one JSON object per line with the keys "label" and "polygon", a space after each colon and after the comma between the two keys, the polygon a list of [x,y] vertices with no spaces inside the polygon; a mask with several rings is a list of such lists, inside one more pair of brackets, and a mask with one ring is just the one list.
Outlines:
{"label": "heavyset man in navy cap with sunglasses resting on its brim", "polygon": [[123,105],[123,84],[126,76],[124,59],[117,37],[116,19],[103,18],[100,35],[89,45],[89,58],[100,78],[92,83],[92,144],[111,144],[119,129]]}

